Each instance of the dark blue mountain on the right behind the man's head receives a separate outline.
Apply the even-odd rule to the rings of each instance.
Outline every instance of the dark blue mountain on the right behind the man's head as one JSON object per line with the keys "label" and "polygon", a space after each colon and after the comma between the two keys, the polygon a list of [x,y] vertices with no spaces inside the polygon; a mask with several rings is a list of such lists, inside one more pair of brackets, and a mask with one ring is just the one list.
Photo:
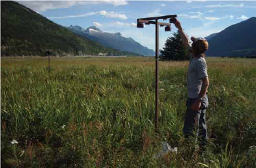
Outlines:
{"label": "dark blue mountain on the right behind the man's head", "polygon": [[256,17],[231,25],[220,33],[207,36],[207,56],[256,57]]}

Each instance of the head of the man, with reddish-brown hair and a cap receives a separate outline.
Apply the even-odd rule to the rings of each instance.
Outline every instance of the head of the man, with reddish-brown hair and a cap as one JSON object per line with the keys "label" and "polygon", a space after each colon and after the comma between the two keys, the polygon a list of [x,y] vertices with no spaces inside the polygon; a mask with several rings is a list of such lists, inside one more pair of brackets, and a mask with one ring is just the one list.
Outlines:
{"label": "head of the man, with reddish-brown hair and a cap", "polygon": [[207,40],[204,38],[196,38],[192,36],[191,41],[193,41],[192,43],[193,55],[196,57],[204,57],[205,52],[209,47]]}

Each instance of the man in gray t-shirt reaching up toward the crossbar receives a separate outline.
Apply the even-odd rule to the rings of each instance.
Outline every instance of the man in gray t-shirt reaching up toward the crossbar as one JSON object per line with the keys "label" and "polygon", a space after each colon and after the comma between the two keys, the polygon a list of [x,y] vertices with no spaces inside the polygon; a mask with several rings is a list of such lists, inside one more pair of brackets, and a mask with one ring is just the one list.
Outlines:
{"label": "man in gray t-shirt reaching up toward the crossbar", "polygon": [[199,141],[199,150],[204,151],[207,144],[207,123],[205,113],[208,107],[207,88],[209,79],[207,64],[204,59],[208,49],[208,42],[203,38],[191,37],[192,47],[189,44],[188,36],[183,32],[180,22],[175,23],[185,47],[192,52],[188,66],[188,101],[185,114],[183,133],[186,138],[193,137],[196,131]]}

